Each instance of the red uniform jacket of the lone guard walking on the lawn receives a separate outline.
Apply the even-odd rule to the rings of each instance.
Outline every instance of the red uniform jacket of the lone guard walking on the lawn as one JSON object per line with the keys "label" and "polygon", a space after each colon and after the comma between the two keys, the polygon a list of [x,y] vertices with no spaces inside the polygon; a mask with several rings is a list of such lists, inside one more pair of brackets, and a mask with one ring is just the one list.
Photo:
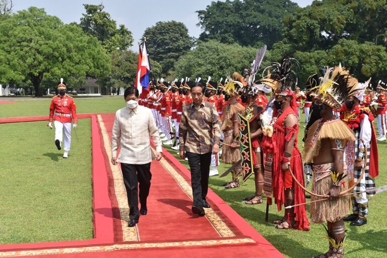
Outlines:
{"label": "red uniform jacket of the lone guard walking on the lawn", "polygon": [[77,106],[75,105],[72,97],[68,95],[61,97],[58,95],[52,98],[50,104],[49,122],[56,120],[62,123],[71,123],[72,116],[73,122],[78,123]]}

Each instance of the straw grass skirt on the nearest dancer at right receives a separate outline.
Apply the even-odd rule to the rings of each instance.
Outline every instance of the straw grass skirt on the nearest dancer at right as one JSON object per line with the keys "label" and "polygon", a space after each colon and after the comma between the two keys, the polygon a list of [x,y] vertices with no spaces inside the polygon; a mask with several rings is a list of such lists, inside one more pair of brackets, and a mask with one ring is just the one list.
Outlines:
{"label": "straw grass skirt on the nearest dancer at right", "polygon": [[[332,185],[331,170],[333,163],[313,166],[312,191],[318,195],[327,195]],[[340,191],[348,189],[348,177],[345,177],[345,185],[340,187]],[[324,198],[311,197],[311,201]],[[321,201],[310,204],[310,220],[314,223],[336,222],[348,215],[350,210],[350,197],[340,197],[334,201]]]}

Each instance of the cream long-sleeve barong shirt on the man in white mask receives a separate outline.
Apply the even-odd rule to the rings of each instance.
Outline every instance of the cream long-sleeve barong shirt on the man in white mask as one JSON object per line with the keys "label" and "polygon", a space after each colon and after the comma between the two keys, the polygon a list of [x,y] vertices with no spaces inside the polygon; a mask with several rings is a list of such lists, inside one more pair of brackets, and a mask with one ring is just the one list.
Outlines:
{"label": "cream long-sleeve barong shirt on the man in white mask", "polygon": [[152,161],[149,136],[156,146],[156,152],[162,152],[161,139],[152,110],[138,105],[117,110],[111,133],[111,156],[117,157],[118,146],[121,151],[117,158],[120,163],[147,164]]}

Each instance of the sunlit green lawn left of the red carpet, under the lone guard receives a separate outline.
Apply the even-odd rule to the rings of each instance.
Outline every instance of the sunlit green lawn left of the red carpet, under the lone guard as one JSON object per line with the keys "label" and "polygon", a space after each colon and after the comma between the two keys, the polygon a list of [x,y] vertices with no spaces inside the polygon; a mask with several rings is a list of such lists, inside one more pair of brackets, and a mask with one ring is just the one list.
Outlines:
{"label": "sunlit green lawn left of the red carpet, under the lone guard", "polygon": [[79,120],[68,159],[46,124],[0,124],[0,244],[93,237],[90,119]]}

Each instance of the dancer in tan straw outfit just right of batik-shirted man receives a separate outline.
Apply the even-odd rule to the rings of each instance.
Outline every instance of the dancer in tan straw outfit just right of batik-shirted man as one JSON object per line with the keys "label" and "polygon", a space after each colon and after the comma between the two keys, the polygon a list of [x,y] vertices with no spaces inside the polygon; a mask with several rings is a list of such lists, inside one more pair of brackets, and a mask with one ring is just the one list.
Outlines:
{"label": "dancer in tan straw outfit just right of batik-shirted man", "polygon": [[[236,79],[238,78],[238,79]],[[241,81],[237,81],[241,80]],[[239,187],[239,175],[242,171],[240,164],[240,149],[239,143],[239,125],[238,125],[238,113],[243,113],[245,108],[237,102],[238,91],[240,88],[246,85],[243,77],[237,73],[234,73],[233,79],[228,78],[227,84],[224,86],[224,90],[227,92],[225,99],[228,99],[228,104],[223,108],[222,127],[224,140],[222,150],[222,161],[225,164],[236,164],[232,171],[232,181],[223,184],[225,188]],[[229,98],[228,98],[229,97]]]}

